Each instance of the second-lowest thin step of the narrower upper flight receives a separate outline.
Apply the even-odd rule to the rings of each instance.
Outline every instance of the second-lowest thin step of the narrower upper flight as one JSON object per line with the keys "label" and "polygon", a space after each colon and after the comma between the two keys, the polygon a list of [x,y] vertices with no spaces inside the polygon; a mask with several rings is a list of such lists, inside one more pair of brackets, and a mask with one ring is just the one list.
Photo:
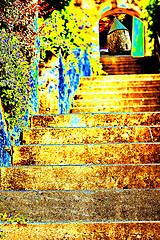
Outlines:
{"label": "second-lowest thin step of the narrower upper flight", "polygon": [[76,107],[102,107],[102,106],[127,106],[131,105],[138,107],[140,105],[158,105],[160,106],[160,99],[152,98],[126,98],[126,99],[77,99],[74,100],[73,106]]}

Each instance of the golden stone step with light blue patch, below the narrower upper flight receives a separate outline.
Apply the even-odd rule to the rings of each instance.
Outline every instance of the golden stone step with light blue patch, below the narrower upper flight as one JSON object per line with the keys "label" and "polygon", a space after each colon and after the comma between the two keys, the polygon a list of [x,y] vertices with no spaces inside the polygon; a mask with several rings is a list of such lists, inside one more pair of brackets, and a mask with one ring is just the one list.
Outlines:
{"label": "golden stone step with light blue patch, below the narrower upper flight", "polygon": [[30,127],[96,127],[160,125],[160,112],[115,114],[54,114],[31,115]]}

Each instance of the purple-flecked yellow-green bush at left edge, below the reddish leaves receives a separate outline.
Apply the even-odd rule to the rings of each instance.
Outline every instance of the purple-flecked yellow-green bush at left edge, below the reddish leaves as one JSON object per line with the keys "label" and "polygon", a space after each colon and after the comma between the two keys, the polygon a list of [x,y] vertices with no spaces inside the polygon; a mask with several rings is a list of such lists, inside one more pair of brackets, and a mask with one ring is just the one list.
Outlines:
{"label": "purple-flecked yellow-green bush at left edge, below the reddish leaves", "polygon": [[8,130],[23,128],[31,92],[29,65],[14,34],[0,31],[0,96]]}

